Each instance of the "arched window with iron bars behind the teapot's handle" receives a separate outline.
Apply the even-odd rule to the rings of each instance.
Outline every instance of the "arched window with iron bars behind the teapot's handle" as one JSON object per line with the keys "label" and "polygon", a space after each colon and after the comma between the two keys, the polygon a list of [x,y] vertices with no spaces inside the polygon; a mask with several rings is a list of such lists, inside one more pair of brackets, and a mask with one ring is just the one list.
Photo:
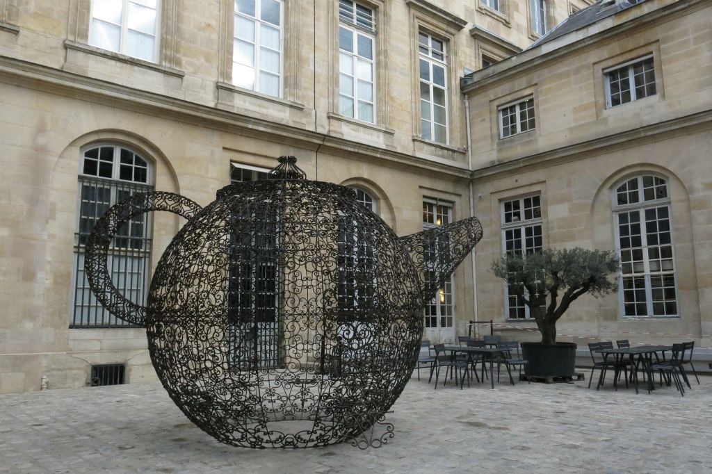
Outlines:
{"label": "arched window with iron bars behind the teapot's handle", "polygon": [[[84,248],[96,221],[119,201],[152,191],[152,167],[139,153],[116,144],[82,150],[74,234],[74,291],[70,327],[127,325],[105,310],[89,288],[84,272]],[[147,215],[119,228],[110,246],[109,272],[116,288],[129,300],[145,304],[151,252],[151,223]]]}

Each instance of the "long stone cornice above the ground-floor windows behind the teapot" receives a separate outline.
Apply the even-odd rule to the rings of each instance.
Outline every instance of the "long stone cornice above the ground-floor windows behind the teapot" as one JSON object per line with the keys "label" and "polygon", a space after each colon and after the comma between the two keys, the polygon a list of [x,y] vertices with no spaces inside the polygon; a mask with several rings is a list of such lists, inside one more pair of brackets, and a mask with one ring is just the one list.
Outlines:
{"label": "long stone cornice above the ground-floor windows behind the teapot", "polygon": [[467,179],[469,171],[464,164],[443,159],[425,159],[370,144],[354,142],[340,137],[305,130],[283,123],[271,122],[228,110],[201,105],[196,102],[172,98],[146,90],[70,73],[46,65],[0,56],[0,77],[9,78],[17,85],[34,88],[45,93],[56,93],[81,100],[134,110],[165,117],[168,120],[210,127],[236,135],[249,135],[270,142],[291,144],[305,149],[323,151],[361,158],[379,157],[397,166],[408,166],[421,171],[441,172],[454,178]]}

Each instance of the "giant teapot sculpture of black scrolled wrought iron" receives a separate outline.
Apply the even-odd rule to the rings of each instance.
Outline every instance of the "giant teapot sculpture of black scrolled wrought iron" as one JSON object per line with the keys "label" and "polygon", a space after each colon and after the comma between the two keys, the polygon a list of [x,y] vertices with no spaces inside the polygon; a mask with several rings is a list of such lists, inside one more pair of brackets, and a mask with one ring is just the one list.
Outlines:
{"label": "giant teapot sculpture of black scrolled wrought iron", "polygon": [[[91,289],[146,327],[169,396],[219,441],[380,446],[417,360],[423,307],[481,226],[468,218],[398,238],[352,189],[305,179],[294,157],[279,161],[269,179],[226,186],[204,208],[167,192],[112,206],[86,249]],[[107,256],[120,227],[148,211],[188,222],[142,307],[115,288]]]}

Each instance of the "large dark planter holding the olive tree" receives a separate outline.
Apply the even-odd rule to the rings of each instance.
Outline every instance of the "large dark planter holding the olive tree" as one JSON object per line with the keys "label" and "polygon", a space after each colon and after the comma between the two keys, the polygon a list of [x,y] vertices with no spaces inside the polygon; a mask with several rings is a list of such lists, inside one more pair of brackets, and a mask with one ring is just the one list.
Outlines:
{"label": "large dark planter holding the olive tree", "polygon": [[529,377],[572,377],[576,362],[576,344],[522,342],[522,358],[529,361],[525,366],[525,374]]}

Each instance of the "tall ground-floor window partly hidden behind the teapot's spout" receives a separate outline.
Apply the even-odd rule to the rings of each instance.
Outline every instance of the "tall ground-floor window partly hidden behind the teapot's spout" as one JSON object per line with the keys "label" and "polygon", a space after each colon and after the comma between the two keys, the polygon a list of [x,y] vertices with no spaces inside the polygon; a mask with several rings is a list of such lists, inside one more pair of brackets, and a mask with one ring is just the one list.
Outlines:
{"label": "tall ground-floor window partly hidden behind the teapot's spout", "polygon": [[[424,199],[423,200],[423,228],[436,228],[452,222],[453,205],[451,203]],[[450,242],[446,236],[443,240],[434,243],[433,248],[424,248],[423,253],[426,260],[436,258],[436,256],[449,256]],[[426,278],[427,275],[426,270]],[[446,328],[453,327],[455,317],[454,300],[454,278],[442,285],[432,299],[425,305],[425,327],[426,328]]]}

